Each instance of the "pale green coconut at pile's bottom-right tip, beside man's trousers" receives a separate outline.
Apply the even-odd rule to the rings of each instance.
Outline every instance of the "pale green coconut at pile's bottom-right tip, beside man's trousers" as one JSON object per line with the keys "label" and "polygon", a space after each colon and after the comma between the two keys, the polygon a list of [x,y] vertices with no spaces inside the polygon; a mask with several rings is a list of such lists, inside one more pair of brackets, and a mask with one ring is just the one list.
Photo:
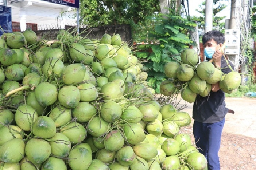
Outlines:
{"label": "pale green coconut at pile's bottom-right tip, beside man's trousers", "polygon": [[207,167],[207,160],[205,156],[198,152],[190,153],[187,157],[187,163],[193,169],[203,170]]}

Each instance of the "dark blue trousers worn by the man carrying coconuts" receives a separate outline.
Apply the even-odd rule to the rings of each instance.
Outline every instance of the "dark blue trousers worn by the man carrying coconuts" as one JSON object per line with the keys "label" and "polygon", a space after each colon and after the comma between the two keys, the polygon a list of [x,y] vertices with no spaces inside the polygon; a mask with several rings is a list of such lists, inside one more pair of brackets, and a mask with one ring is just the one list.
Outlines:
{"label": "dark blue trousers worn by the man carrying coconuts", "polygon": [[199,152],[208,161],[208,170],[220,170],[218,151],[220,149],[221,133],[225,118],[216,123],[194,121],[193,134]]}

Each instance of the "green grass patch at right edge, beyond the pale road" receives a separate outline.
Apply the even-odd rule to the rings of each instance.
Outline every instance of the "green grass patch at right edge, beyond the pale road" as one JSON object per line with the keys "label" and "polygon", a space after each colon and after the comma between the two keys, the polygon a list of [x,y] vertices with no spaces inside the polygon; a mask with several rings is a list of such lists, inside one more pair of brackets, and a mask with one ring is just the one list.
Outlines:
{"label": "green grass patch at right edge, beyond the pale road", "polygon": [[226,93],[226,97],[249,97],[249,98],[256,98],[256,96],[246,96],[248,92],[255,92],[256,93],[256,84],[240,86],[236,92],[231,94]]}

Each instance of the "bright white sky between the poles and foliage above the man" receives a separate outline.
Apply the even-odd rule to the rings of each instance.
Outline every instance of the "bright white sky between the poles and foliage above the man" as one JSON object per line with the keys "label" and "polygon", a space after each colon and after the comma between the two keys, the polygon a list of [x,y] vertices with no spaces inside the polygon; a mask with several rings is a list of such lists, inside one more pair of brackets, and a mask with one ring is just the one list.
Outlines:
{"label": "bright white sky between the poles and foliage above the man", "polygon": [[[190,16],[199,16],[202,15],[201,13],[197,12],[196,9],[200,9],[199,5],[205,0],[189,0],[189,14]],[[231,0],[225,1],[222,0],[220,1],[223,4],[226,4],[227,7],[225,9],[223,9],[221,12],[217,13],[216,16],[226,16],[225,19],[230,19],[230,8],[231,8]],[[185,5],[186,5],[186,1],[185,1]],[[214,5],[213,4],[213,8],[214,6],[218,6],[217,4]],[[186,6],[187,9],[187,6]],[[225,21],[224,19],[224,21]]]}

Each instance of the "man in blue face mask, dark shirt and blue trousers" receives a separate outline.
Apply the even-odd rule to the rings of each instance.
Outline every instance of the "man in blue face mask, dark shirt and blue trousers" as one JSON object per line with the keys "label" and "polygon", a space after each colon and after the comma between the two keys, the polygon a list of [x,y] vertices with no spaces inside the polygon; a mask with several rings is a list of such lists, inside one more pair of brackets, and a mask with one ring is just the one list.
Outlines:
{"label": "man in blue face mask, dark shirt and blue trousers", "polygon": [[[225,74],[231,72],[221,47],[225,37],[219,31],[209,31],[202,38],[206,61],[213,61],[213,65]],[[212,59],[212,60],[211,60]],[[230,63],[231,66],[233,66]],[[219,82],[212,84],[209,96],[197,94],[193,105],[193,134],[196,146],[208,161],[208,170],[220,170],[218,151],[220,149],[221,133],[225,122],[225,115],[229,111],[225,104],[225,92],[220,89]]]}

